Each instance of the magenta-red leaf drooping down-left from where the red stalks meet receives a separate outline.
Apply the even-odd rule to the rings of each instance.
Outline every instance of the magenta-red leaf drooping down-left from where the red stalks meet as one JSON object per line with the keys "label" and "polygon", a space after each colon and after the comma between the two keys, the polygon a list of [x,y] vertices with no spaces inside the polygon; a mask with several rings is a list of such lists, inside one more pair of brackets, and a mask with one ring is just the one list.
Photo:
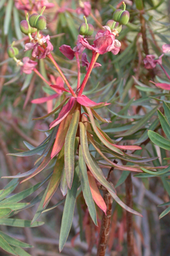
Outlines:
{"label": "magenta-red leaf drooping down-left from where the red stalks meet", "polygon": [[55,127],[57,124],[61,123],[61,121],[69,114],[69,111],[71,111],[72,107],[74,106],[76,101],[75,97],[71,97],[70,100],[64,107],[61,109],[61,112],[59,113],[59,116],[56,120],[52,121],[50,124],[50,129]]}

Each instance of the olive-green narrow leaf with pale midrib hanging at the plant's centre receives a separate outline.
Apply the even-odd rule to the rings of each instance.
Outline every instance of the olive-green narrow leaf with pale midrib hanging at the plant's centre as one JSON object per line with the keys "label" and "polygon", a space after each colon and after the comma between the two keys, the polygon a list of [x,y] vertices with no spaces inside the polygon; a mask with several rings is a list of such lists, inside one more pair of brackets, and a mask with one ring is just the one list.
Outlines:
{"label": "olive-green narrow leaf with pale midrib hanging at the plant's centre", "polygon": [[77,127],[79,124],[79,117],[80,111],[75,111],[74,115],[72,116],[72,121],[69,125],[69,129],[66,135],[66,140],[64,144],[64,164],[65,164],[65,171],[67,177],[67,184],[69,189],[72,187],[72,180],[74,176],[75,170],[75,137],[77,132]]}

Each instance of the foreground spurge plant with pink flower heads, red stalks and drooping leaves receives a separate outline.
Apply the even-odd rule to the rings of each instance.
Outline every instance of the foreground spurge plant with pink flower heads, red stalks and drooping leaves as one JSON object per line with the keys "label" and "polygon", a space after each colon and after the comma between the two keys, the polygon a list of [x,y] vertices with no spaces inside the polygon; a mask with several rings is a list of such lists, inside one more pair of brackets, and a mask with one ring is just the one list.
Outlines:
{"label": "foreground spurge plant with pink flower heads, red stalks and drooping leaves", "polygon": [[[17,4],[18,2],[19,1],[17,1]],[[38,145],[38,147],[33,147],[33,145],[30,145],[29,143],[25,143],[27,148],[29,148],[29,151],[11,153],[12,156],[33,156],[39,154],[40,157],[35,161],[35,167],[28,172],[8,176],[8,178],[23,178],[20,183],[25,183],[43,170],[52,168],[52,172],[48,173],[43,182],[34,185],[33,188],[28,188],[25,193],[18,193],[14,195],[13,198],[9,197],[8,199],[5,199],[17,185],[17,181],[14,179],[14,181],[0,193],[0,199],[4,200],[1,205],[8,207],[10,202],[15,204],[12,206],[12,210],[9,210],[7,215],[5,215],[12,217],[12,215],[17,213],[20,209],[27,209],[35,203],[40,202],[32,222],[28,221],[27,223],[27,226],[33,227],[42,224],[38,223],[37,220],[43,212],[54,209],[64,202],[59,237],[60,252],[67,241],[72,226],[75,203],[76,200],[79,199],[83,205],[82,210],[85,212],[85,217],[89,221],[93,220],[93,223],[96,226],[98,226],[98,220],[100,222],[100,213],[98,208],[96,211],[95,204],[103,211],[101,233],[98,236],[97,255],[105,255],[106,245],[109,239],[112,200],[114,199],[116,203],[127,212],[142,217],[140,212],[132,209],[132,201],[130,203],[127,201],[127,204],[124,204],[124,202],[116,195],[114,184],[109,181],[111,172],[114,172],[114,169],[127,171],[127,177],[129,172],[153,173],[152,169],[155,168],[145,166],[145,163],[156,158],[141,159],[137,155],[132,154],[135,151],[142,149],[140,146],[127,145],[127,143],[126,145],[123,145],[121,142],[122,137],[117,140],[112,140],[106,132],[103,132],[101,124],[105,123],[107,125],[111,123],[111,120],[103,119],[103,117],[98,114],[98,108],[105,108],[107,105],[109,106],[110,103],[95,103],[85,95],[86,85],[90,80],[90,74],[93,71],[93,68],[98,68],[100,72],[101,64],[97,63],[98,57],[104,55],[106,52],[111,52],[111,54],[117,55],[121,49],[121,43],[116,39],[116,36],[119,36],[119,33],[121,33],[122,25],[127,25],[129,21],[129,12],[127,12],[124,2],[122,2],[122,4],[123,9],[116,9],[113,15],[113,20],[108,20],[103,27],[100,25],[100,31],[97,31],[94,40],[93,25],[88,24],[86,18],[90,15],[88,4],[86,3],[84,6],[80,7],[80,9],[77,9],[77,12],[82,12],[85,15],[85,22],[82,23],[79,28],[77,43],[73,49],[66,44],[59,47],[60,52],[65,57],[69,60],[73,60],[74,58],[76,60],[76,88],[67,80],[62,68],[56,63],[53,55],[54,46],[51,44],[50,36],[43,35],[43,30],[46,28],[46,17],[43,15],[43,12],[46,7],[43,7],[41,14],[33,13],[30,17],[28,17],[27,14],[25,20],[22,20],[20,23],[20,30],[22,33],[25,33],[30,40],[25,44],[25,52],[31,50],[33,60],[30,57],[23,57],[22,60],[17,59],[19,51],[14,42],[8,48],[9,57],[12,57],[17,65],[20,66],[21,73],[36,73],[43,82],[48,84],[51,89],[50,92],[52,92],[52,90],[55,92],[51,93],[51,95],[47,94],[46,97],[32,100],[33,104],[51,103],[51,100],[59,97],[61,97],[62,100],[59,105],[55,105],[54,110],[52,110],[53,105],[48,104],[48,113],[45,116],[35,118],[35,120],[42,120],[53,114],[55,115],[56,119],[51,121],[49,129],[46,131],[46,140],[44,140],[41,145]],[[33,6],[35,8],[36,3],[34,3]],[[27,2],[27,10],[29,10],[28,7],[29,3]],[[35,8],[34,10],[37,11],[38,8]],[[90,44],[89,41],[92,40],[93,44]],[[85,49],[88,49],[89,56],[84,52]],[[92,52],[91,60],[90,52]],[[46,77],[42,76],[38,69],[35,68],[35,66],[38,65],[38,60],[45,58],[51,61],[51,64],[54,65],[60,74],[57,78],[49,74],[51,81],[48,81]],[[82,63],[82,66],[86,67],[84,77],[82,77],[80,73],[80,63]],[[160,64],[159,60],[157,60],[157,63]],[[93,151],[98,153],[98,156],[100,156],[99,159],[95,159]],[[47,181],[48,185],[46,186],[46,190],[33,199],[30,204],[18,203],[18,201],[25,199],[25,197],[38,190],[38,188]],[[130,182],[131,180],[129,176],[129,189]],[[59,186],[64,199],[59,201],[54,207],[46,209]],[[127,193],[132,193],[132,191],[128,191],[128,186]],[[23,223],[20,223],[20,226],[23,226]],[[25,252],[22,249],[16,249],[18,241],[13,240],[10,249],[7,248],[8,245],[5,244],[6,241],[9,241],[9,237],[4,235],[4,233],[0,233],[0,247],[12,255],[24,255]],[[21,243],[18,247],[30,246]]]}

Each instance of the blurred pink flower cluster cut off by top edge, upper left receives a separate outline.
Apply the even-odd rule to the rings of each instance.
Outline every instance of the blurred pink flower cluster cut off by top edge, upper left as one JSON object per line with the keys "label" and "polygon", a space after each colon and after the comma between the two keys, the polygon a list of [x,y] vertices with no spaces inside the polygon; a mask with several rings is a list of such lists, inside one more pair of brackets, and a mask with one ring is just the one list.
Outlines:
{"label": "blurred pink flower cluster cut off by top edge, upper left", "polygon": [[44,6],[46,9],[54,7],[54,4],[48,3],[48,0],[15,0],[14,4],[17,9],[23,9],[25,11],[38,11]]}

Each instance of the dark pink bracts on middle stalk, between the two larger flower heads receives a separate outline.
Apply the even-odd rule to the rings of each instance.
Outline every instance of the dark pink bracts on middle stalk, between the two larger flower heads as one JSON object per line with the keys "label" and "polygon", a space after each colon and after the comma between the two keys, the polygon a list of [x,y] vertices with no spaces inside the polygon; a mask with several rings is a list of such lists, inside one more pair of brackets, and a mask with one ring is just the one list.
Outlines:
{"label": "dark pink bracts on middle stalk, between the two larger flower heads", "polygon": [[59,47],[60,52],[62,52],[62,54],[65,57],[67,57],[69,60],[72,60],[75,57],[75,52],[78,52],[78,54],[81,55],[85,49],[85,47],[83,47],[82,44],[80,43],[81,39],[83,39],[83,36],[78,35],[77,45],[73,49],[69,45],[66,45],[66,44],[61,45],[61,47]]}

